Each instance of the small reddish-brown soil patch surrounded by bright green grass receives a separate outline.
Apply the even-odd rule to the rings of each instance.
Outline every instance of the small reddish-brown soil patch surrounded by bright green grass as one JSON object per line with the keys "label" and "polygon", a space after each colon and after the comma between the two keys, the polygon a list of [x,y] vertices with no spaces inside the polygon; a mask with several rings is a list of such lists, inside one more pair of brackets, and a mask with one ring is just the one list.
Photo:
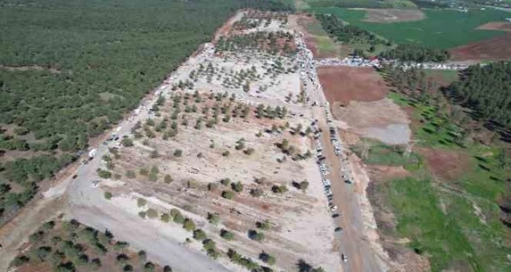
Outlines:
{"label": "small reddish-brown soil patch surrounded by bright green grass", "polygon": [[469,167],[469,156],[465,153],[431,148],[419,148],[417,151],[426,157],[431,173],[444,181],[457,179]]}

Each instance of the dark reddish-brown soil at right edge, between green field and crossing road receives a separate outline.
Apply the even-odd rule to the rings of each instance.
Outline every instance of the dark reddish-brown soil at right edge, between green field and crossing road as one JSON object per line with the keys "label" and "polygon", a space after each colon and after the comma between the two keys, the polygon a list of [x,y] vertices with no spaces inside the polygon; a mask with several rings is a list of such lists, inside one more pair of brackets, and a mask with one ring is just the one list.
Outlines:
{"label": "dark reddish-brown soil at right edge, between green field and crossing road", "polygon": [[510,60],[511,33],[450,50],[453,60]]}

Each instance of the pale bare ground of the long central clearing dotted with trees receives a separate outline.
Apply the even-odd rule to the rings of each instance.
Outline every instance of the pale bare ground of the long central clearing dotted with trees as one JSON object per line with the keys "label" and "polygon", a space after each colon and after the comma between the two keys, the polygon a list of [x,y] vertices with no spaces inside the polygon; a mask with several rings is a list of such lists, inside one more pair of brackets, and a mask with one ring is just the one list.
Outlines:
{"label": "pale bare ground of the long central clearing dotted with trees", "polygon": [[[230,32],[227,30],[224,34]],[[207,46],[205,50],[208,50]],[[311,117],[310,109],[297,101],[300,94],[298,72],[287,70],[294,67],[294,62],[294,58],[246,51],[223,53],[221,57],[199,53],[191,58],[168,79],[172,84],[163,90],[167,100],[160,105],[158,114],[151,116],[156,126],[166,119],[165,129],[156,131],[155,127],[144,125],[146,128],[139,131],[146,136],[149,136],[148,130],[153,131],[153,137],[134,138],[132,147],[119,146],[120,158],[113,160],[114,179],[101,181],[100,188],[113,193],[115,197],[111,202],[130,214],[144,212],[149,207],[155,209],[158,217],[147,219],[154,224],[160,224],[160,214],[169,213],[172,208],[181,210],[206,232],[208,238],[215,240],[222,252],[233,248],[258,261],[258,255],[265,251],[277,258],[275,268],[284,271],[296,269],[298,259],[322,266],[326,271],[337,271],[339,254],[334,242],[334,221],[329,215],[317,165],[312,159],[294,161],[278,148],[278,143],[286,138],[296,154],[313,149],[309,136],[293,134],[285,127],[286,122],[291,128],[301,124],[304,131]],[[282,63],[286,72],[267,72],[276,63]],[[241,85],[248,78],[245,73],[252,66],[257,75],[251,77],[250,86],[244,89]],[[204,69],[212,72],[204,72]],[[241,85],[235,83],[239,81]],[[176,86],[177,82],[193,82],[194,86],[181,88]],[[174,91],[170,90],[170,85]],[[198,94],[194,96],[200,99],[192,96],[195,90]],[[222,96],[224,92],[226,95]],[[292,98],[289,98],[290,93]],[[181,96],[180,102],[176,103],[181,109],[177,117],[172,117],[177,105],[170,94]],[[187,95],[189,98],[185,98]],[[260,103],[265,108],[285,106],[288,114],[282,119],[255,117],[255,108]],[[216,124],[207,127],[208,121],[214,119],[215,104],[229,108],[218,114]],[[236,106],[248,107],[248,115],[235,115]],[[196,110],[191,110],[192,107]],[[227,115],[229,119],[225,119]],[[196,126],[198,119],[203,120],[200,128]],[[177,135],[164,140],[164,131],[167,133],[174,121]],[[284,128],[272,132],[274,124]],[[236,141],[243,141],[245,147],[236,149]],[[254,153],[246,155],[246,148],[253,148]],[[176,155],[176,150],[182,150],[182,155]],[[106,164],[103,163],[103,167]],[[156,181],[151,181],[140,171],[151,171],[153,167],[158,169]],[[128,170],[134,171],[136,177],[128,178]],[[172,176],[170,183],[163,182],[167,174]],[[222,192],[232,188],[222,185],[222,179],[230,179],[233,183],[239,181],[244,188],[234,193],[232,200],[226,199]],[[263,179],[265,181],[261,181]],[[304,179],[309,182],[305,192],[294,188],[294,181]],[[275,185],[286,186],[288,191],[273,193],[272,186]],[[251,196],[255,189],[261,190],[263,195]],[[143,207],[137,207],[139,197],[147,201]],[[218,214],[221,223],[210,224],[208,213]],[[257,221],[265,220],[270,221],[272,227],[263,231],[263,242],[251,240],[248,231],[256,229]],[[192,233],[184,231],[182,224],[165,224],[164,228],[168,228],[175,240],[184,242],[189,238],[194,241]],[[232,231],[234,240],[220,238],[222,228]],[[187,245],[202,250],[200,242]],[[229,266],[227,258],[220,261]]]}

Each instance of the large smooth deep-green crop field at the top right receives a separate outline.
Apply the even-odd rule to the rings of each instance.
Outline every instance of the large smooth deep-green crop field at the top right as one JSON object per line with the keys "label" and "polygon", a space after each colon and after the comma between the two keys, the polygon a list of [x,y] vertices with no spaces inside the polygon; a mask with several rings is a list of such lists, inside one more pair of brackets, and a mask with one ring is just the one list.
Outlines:
{"label": "large smooth deep-green crop field at the top right", "polygon": [[398,44],[415,42],[434,48],[453,48],[472,41],[489,39],[505,34],[501,31],[475,30],[486,22],[504,20],[510,13],[487,9],[462,13],[452,10],[424,10],[427,18],[414,22],[374,23],[363,22],[365,11],[347,8],[311,8],[311,13],[329,13],[342,20]]}

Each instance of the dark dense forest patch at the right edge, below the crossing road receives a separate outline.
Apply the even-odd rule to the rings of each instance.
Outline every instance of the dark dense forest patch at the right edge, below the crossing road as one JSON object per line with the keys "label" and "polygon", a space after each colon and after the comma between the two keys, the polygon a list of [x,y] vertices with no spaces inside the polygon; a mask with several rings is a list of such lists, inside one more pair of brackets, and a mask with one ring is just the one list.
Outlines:
{"label": "dark dense forest patch at the right edge, below the crossing road", "polygon": [[482,119],[511,129],[511,62],[470,66],[447,91]]}

